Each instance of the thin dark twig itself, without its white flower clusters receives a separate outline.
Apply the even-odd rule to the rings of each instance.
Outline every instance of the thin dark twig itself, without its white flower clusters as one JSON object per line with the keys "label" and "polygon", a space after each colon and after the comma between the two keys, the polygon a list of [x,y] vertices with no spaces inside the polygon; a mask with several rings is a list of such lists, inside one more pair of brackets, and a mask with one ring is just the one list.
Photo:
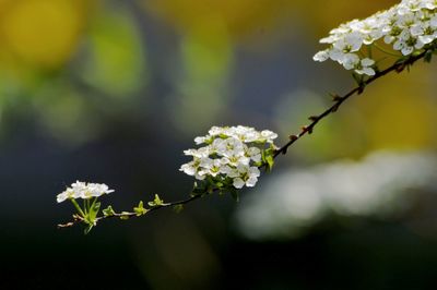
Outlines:
{"label": "thin dark twig itself, without its white flower clusters", "polygon": [[[426,53],[428,53],[429,50],[425,50],[420,55],[416,56],[412,56],[403,61],[398,61],[394,64],[392,64],[391,67],[385,69],[383,71],[378,71],[374,76],[367,78],[366,81],[364,81],[361,85],[358,85],[357,87],[351,89],[349,93],[344,94],[343,96],[339,96],[339,95],[334,95],[333,96],[333,101],[334,104],[329,107],[328,109],[326,109],[322,113],[318,114],[318,116],[311,116],[309,118],[309,120],[311,121],[311,123],[309,123],[308,125],[305,125],[302,128],[300,132],[298,134],[295,135],[291,135],[290,136],[290,141],[284,144],[281,148],[276,149],[273,157],[276,158],[280,154],[286,154],[287,149],[290,146],[292,146],[296,141],[298,141],[299,138],[302,138],[304,135],[306,134],[311,134],[314,129],[316,128],[316,125],[326,117],[328,117],[329,114],[335,112],[340,106],[347,100],[350,97],[352,97],[353,95],[357,94],[362,94],[365,89],[365,87],[369,84],[371,84],[373,82],[375,82],[376,80],[380,78],[381,76],[391,73],[391,72],[397,72],[400,73],[402,72],[405,68],[412,65],[413,63],[415,63],[417,60],[423,59]],[[215,192],[216,190],[214,190],[213,192]],[[205,193],[206,194],[206,193]],[[177,202],[172,202],[172,203],[163,203],[161,205],[156,205],[156,206],[152,206],[146,209],[145,214],[149,214],[151,212],[161,209],[161,208],[166,208],[166,207],[174,207],[176,205],[185,205],[188,203],[191,203],[196,200],[199,200],[200,197],[202,197],[204,194],[198,194],[198,195],[192,195],[189,198],[186,200],[181,200],[181,201],[177,201]],[[104,219],[108,219],[108,218],[130,218],[130,217],[139,217],[142,215],[139,215],[137,213],[131,213],[131,212],[122,212],[122,213],[115,213],[113,215],[108,215],[108,216],[101,216],[97,217],[95,219],[95,222],[98,222],[101,220]],[[69,227],[73,227],[76,223],[81,223],[84,221],[84,218],[79,216],[79,215],[73,215],[73,220],[67,223],[60,223],[58,225],[58,228],[69,228]]]}

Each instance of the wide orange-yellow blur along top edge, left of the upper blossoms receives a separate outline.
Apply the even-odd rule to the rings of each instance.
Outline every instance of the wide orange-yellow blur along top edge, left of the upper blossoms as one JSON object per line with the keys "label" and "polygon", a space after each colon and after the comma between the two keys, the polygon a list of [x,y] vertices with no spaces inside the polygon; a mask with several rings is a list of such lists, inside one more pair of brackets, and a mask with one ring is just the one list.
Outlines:
{"label": "wide orange-yellow blur along top edge, left of the upper blossoms", "polygon": [[[142,0],[146,10],[182,33],[206,28],[217,20],[233,40],[255,36],[265,41],[272,28],[287,35],[316,28],[320,36],[340,23],[366,17],[399,0]],[[280,28],[281,27],[281,28]],[[269,31],[267,33],[267,31]]]}

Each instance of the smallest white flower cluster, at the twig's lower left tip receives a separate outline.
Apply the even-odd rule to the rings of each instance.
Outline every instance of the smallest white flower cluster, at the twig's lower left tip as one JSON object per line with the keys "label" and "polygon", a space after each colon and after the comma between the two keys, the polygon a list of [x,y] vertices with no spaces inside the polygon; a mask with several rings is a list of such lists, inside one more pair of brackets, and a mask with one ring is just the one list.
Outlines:
{"label": "smallest white flower cluster, at the twig's lower left tip", "polygon": [[58,203],[62,203],[69,198],[88,200],[111,192],[114,192],[114,190],[109,190],[108,185],[106,184],[76,181],[71,184],[71,188],[68,188],[64,192],[58,194],[56,200]]}

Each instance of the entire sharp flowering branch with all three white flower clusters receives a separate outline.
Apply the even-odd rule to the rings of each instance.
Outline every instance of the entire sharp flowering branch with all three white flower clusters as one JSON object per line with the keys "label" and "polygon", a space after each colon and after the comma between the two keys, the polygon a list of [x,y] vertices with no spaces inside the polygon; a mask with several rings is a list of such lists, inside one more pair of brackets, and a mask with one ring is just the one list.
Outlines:
{"label": "entire sharp flowering branch with all three white flower clusters", "polygon": [[[387,51],[378,41],[383,39],[391,45],[397,53]],[[238,200],[238,190],[252,188],[258,182],[260,169],[270,171],[274,159],[286,154],[290,146],[306,134],[311,134],[316,125],[329,114],[335,112],[340,106],[354,95],[364,92],[367,85],[391,72],[400,73],[410,69],[416,61],[424,59],[430,62],[437,51],[437,0],[403,0],[389,10],[378,12],[363,21],[354,20],[332,29],[330,35],[320,43],[328,44],[326,50],[314,57],[316,61],[331,59],[342,64],[346,70],[353,70],[353,77],[357,86],[340,96],[331,94],[333,105],[317,116],[309,117],[311,121],[302,128],[296,135],[282,147],[276,147],[273,140],[277,134],[264,130],[256,131],[248,126],[218,128],[213,126],[205,136],[196,137],[198,149],[185,150],[192,160],[180,167],[188,176],[194,177],[190,197],[177,202],[164,203],[155,194],[155,198],[144,207],[140,202],[133,212],[116,213],[111,206],[103,209],[98,216],[101,203],[98,197],[113,192],[106,184],[75,182],[64,192],[58,194],[58,203],[70,200],[76,208],[73,220],[58,225],[59,228],[72,227],[76,223],[86,226],[85,233],[90,232],[98,221],[108,218],[129,219],[140,217],[161,208],[173,207],[180,212],[184,205],[212,193],[231,193]],[[379,61],[373,59],[373,47],[390,57],[395,57],[394,63],[383,70],[377,65]],[[81,207],[76,198],[83,198]]]}

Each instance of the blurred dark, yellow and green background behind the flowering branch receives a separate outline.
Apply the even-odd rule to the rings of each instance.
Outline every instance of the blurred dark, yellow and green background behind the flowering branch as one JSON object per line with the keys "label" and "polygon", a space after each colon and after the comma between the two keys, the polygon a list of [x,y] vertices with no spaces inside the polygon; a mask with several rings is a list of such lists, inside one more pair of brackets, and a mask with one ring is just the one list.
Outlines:
{"label": "blurred dark, yellow and green background behind the flowering branch", "polygon": [[318,39],[397,1],[0,0],[1,289],[435,289],[435,64],[389,75],[241,193],[58,230],[75,180],[186,197],[212,125],[280,133],[345,93]]}

